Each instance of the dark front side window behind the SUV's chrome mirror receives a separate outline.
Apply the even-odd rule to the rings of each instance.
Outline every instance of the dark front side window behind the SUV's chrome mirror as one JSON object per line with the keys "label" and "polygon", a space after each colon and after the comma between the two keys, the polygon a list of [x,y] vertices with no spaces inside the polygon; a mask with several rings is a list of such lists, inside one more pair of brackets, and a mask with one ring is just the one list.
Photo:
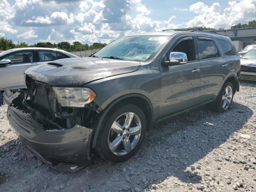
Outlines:
{"label": "dark front side window behind the SUV's chrome mirror", "polygon": [[194,49],[194,40],[191,39],[187,39],[187,40],[182,40],[181,42],[179,42],[174,49],[172,50],[172,52],[183,52],[187,54],[188,57],[188,61],[194,61],[196,60],[195,58],[195,49]]}

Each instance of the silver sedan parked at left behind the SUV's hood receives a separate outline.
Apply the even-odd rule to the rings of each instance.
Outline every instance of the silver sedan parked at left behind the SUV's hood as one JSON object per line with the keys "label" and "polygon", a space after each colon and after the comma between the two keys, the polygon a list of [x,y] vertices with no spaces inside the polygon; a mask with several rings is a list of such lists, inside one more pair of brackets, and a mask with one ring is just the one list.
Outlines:
{"label": "silver sedan parked at left behind the SUV's hood", "polygon": [[43,62],[78,57],[64,50],[52,48],[16,48],[0,53],[0,91],[26,88],[24,72]]}

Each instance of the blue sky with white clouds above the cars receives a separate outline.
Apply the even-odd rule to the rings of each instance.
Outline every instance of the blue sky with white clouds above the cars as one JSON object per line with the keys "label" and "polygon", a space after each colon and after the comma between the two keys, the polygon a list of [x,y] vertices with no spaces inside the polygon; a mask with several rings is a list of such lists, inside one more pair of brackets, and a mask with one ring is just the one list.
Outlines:
{"label": "blue sky with white clouds above the cars", "polygon": [[256,0],[0,0],[0,36],[14,42],[109,43],[128,34],[256,19]]}

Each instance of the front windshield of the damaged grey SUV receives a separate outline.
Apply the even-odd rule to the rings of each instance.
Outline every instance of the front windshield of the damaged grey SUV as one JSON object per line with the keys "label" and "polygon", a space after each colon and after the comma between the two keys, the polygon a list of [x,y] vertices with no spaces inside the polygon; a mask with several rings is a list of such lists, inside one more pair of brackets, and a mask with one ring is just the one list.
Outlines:
{"label": "front windshield of the damaged grey SUV", "polygon": [[122,37],[92,56],[145,62],[151,60],[169,38],[169,36],[159,35]]}

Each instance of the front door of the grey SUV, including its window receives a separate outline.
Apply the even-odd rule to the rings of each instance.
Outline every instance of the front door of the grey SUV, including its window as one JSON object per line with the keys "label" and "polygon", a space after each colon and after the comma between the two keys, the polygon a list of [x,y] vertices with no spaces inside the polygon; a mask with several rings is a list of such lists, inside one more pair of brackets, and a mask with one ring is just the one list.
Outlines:
{"label": "front door of the grey SUV, including its window", "polygon": [[201,65],[197,56],[195,38],[182,36],[170,45],[164,60],[170,52],[184,52],[188,63],[175,66],[160,66],[162,91],[160,117],[198,105],[200,101]]}

